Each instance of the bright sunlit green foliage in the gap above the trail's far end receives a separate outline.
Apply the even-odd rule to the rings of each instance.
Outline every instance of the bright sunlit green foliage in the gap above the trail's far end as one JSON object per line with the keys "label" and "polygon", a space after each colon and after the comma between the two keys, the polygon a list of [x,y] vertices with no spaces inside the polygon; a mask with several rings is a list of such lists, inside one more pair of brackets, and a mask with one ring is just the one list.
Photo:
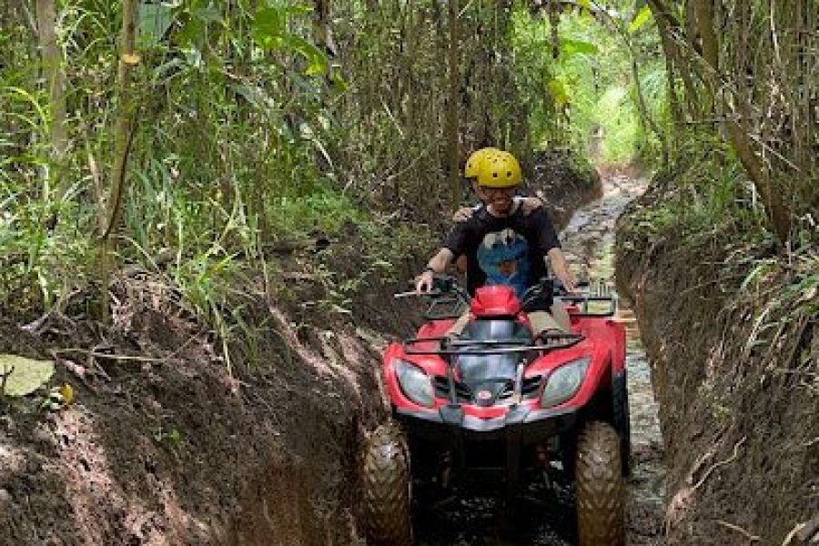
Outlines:
{"label": "bright sunlit green foliage in the gap above the trail's far end", "polygon": [[544,104],[531,100],[533,141],[541,147],[568,144],[586,149],[590,136],[600,132],[602,155],[597,161],[625,164],[637,157],[652,161],[661,143],[641,119],[632,74],[632,55],[637,55],[648,114],[665,116],[664,65],[650,60],[658,46],[657,36],[646,28],[651,11],[642,5],[633,17],[596,14],[561,15],[556,61],[544,55],[552,49],[550,21],[522,10],[516,15],[516,70],[525,75],[521,78],[532,96],[540,93],[551,99]]}

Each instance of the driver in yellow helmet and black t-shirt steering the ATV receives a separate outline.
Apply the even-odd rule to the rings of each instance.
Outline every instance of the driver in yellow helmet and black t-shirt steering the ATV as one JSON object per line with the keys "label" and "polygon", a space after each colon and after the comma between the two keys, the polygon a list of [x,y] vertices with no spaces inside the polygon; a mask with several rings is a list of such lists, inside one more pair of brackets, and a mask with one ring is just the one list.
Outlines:
{"label": "driver in yellow helmet and black t-shirt steering the ATV", "polygon": [[[474,293],[483,285],[507,285],[518,297],[547,276],[547,262],[555,277],[568,290],[574,289],[561,251],[560,241],[546,211],[537,208],[524,214],[521,200],[515,193],[521,185],[521,167],[509,152],[495,152],[478,166],[477,186],[486,207],[457,223],[444,245],[416,278],[416,289],[427,292],[435,273],[443,273],[455,258],[467,259],[467,290]],[[533,310],[529,313],[536,334],[547,329],[569,330],[568,314],[561,304],[552,305],[551,312]],[[555,315],[559,320],[555,320]],[[469,321],[466,313],[450,329],[459,335]]]}

